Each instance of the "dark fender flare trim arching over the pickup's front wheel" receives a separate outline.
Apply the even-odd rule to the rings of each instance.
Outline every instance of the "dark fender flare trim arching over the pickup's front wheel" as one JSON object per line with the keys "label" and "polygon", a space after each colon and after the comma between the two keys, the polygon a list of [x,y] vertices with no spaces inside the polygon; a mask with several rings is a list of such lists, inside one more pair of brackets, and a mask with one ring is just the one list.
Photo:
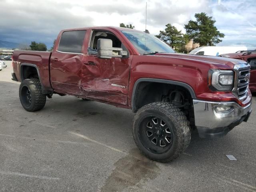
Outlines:
{"label": "dark fender flare trim arching over the pickup's front wheel", "polygon": [[133,90],[132,90],[131,107],[132,107],[132,112],[134,112],[134,113],[138,110],[136,108],[136,93],[137,93],[138,85],[141,82],[156,82],[156,83],[164,83],[164,84],[182,86],[186,90],[188,90],[188,92],[190,92],[190,95],[191,95],[192,99],[196,99],[196,94],[195,94],[193,88],[189,84],[186,84],[184,82],[173,81],[173,80],[165,80],[165,79],[140,78],[140,79],[136,80],[136,82],[134,83],[134,86],[133,86]]}

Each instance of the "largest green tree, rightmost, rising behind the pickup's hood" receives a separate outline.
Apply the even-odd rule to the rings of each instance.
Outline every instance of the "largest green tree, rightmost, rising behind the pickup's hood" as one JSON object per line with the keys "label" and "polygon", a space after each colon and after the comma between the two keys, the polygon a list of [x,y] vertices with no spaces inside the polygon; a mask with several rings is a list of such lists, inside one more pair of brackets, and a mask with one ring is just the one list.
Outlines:
{"label": "largest green tree, rightmost, rising behind the pickup's hood", "polygon": [[212,17],[202,12],[196,13],[195,18],[196,21],[190,20],[185,25],[186,33],[190,39],[193,39],[194,43],[199,43],[200,46],[214,46],[222,42],[220,38],[225,35],[214,26],[216,21]]}

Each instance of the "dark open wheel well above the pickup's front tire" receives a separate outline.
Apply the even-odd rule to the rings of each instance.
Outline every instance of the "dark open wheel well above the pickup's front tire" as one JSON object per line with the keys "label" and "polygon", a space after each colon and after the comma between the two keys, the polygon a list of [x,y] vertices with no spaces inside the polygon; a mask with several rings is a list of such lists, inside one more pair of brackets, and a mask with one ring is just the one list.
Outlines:
{"label": "dark open wheel well above the pickup's front tire", "polygon": [[[193,92],[194,93],[194,92]],[[194,124],[193,98],[191,90],[176,84],[161,82],[140,82],[136,86],[133,96],[133,112],[153,102],[170,102],[180,108],[190,121]]]}

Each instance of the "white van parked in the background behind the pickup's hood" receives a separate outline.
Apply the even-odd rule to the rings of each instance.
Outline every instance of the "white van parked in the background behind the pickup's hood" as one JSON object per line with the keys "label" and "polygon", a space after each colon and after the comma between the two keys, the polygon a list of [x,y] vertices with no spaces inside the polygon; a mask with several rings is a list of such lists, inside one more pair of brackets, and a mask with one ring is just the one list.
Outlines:
{"label": "white van parked in the background behind the pickup's hood", "polygon": [[205,46],[198,47],[188,54],[219,56],[225,53],[235,53],[237,51],[247,51],[246,46]]}

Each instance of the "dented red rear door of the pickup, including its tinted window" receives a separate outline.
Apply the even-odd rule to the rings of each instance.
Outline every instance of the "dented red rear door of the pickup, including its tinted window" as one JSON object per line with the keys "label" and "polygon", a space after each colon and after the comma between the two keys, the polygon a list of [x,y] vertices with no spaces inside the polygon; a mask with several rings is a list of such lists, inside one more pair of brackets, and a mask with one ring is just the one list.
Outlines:
{"label": "dented red rear door of the pickup, including its tinted window", "polygon": [[51,83],[54,90],[81,95],[81,67],[86,30],[65,31],[50,59]]}

